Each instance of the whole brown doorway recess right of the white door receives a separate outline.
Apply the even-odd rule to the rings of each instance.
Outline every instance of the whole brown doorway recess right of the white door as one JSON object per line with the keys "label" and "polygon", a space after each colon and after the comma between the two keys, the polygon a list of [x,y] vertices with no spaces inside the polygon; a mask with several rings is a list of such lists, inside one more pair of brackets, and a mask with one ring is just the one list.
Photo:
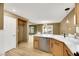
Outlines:
{"label": "whole brown doorway recess right of the white door", "polygon": [[18,19],[17,44],[27,41],[27,21]]}

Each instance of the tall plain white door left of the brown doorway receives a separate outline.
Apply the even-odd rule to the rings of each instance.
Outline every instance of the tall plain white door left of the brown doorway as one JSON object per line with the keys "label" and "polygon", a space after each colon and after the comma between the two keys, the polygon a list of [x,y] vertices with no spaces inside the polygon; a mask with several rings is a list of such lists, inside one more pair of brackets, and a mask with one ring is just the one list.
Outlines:
{"label": "tall plain white door left of the brown doorway", "polygon": [[4,16],[4,51],[16,48],[16,19]]}

